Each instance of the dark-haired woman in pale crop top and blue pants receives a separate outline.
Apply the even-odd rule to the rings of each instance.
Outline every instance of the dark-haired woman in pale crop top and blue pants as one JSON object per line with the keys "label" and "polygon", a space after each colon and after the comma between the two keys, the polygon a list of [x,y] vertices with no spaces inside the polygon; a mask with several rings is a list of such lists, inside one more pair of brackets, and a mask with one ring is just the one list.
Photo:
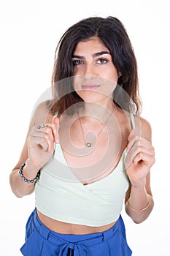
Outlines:
{"label": "dark-haired woman in pale crop top and blue pants", "polygon": [[10,175],[34,192],[23,255],[131,255],[120,212],[136,223],[153,208],[150,124],[139,117],[137,65],[117,18],[87,18],[58,44],[53,99],[35,110]]}

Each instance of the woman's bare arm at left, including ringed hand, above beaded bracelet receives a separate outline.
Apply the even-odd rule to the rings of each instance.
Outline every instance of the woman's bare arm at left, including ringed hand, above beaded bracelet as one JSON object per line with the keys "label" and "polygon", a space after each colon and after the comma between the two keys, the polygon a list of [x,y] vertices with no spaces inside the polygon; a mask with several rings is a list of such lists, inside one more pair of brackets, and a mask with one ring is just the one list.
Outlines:
{"label": "woman's bare arm at left, including ringed hand, above beaded bracelet", "polygon": [[[37,128],[39,124],[45,124],[45,127],[39,129]],[[17,197],[30,195],[35,187],[35,183],[28,184],[20,178],[20,166],[26,162],[23,167],[25,178],[32,180],[36,177],[38,171],[53,154],[54,143],[58,143],[58,127],[58,118],[53,120],[46,103],[42,102],[34,112],[20,159],[9,176],[12,192]]]}

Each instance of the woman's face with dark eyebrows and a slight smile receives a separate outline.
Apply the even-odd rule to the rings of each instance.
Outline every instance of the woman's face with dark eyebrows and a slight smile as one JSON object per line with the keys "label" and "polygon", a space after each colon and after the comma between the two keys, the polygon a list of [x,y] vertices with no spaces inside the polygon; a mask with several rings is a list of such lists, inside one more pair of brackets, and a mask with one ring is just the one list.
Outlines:
{"label": "woman's face with dark eyebrows and a slight smile", "polygon": [[112,98],[119,76],[109,50],[97,37],[77,43],[72,63],[74,90],[85,102]]}

